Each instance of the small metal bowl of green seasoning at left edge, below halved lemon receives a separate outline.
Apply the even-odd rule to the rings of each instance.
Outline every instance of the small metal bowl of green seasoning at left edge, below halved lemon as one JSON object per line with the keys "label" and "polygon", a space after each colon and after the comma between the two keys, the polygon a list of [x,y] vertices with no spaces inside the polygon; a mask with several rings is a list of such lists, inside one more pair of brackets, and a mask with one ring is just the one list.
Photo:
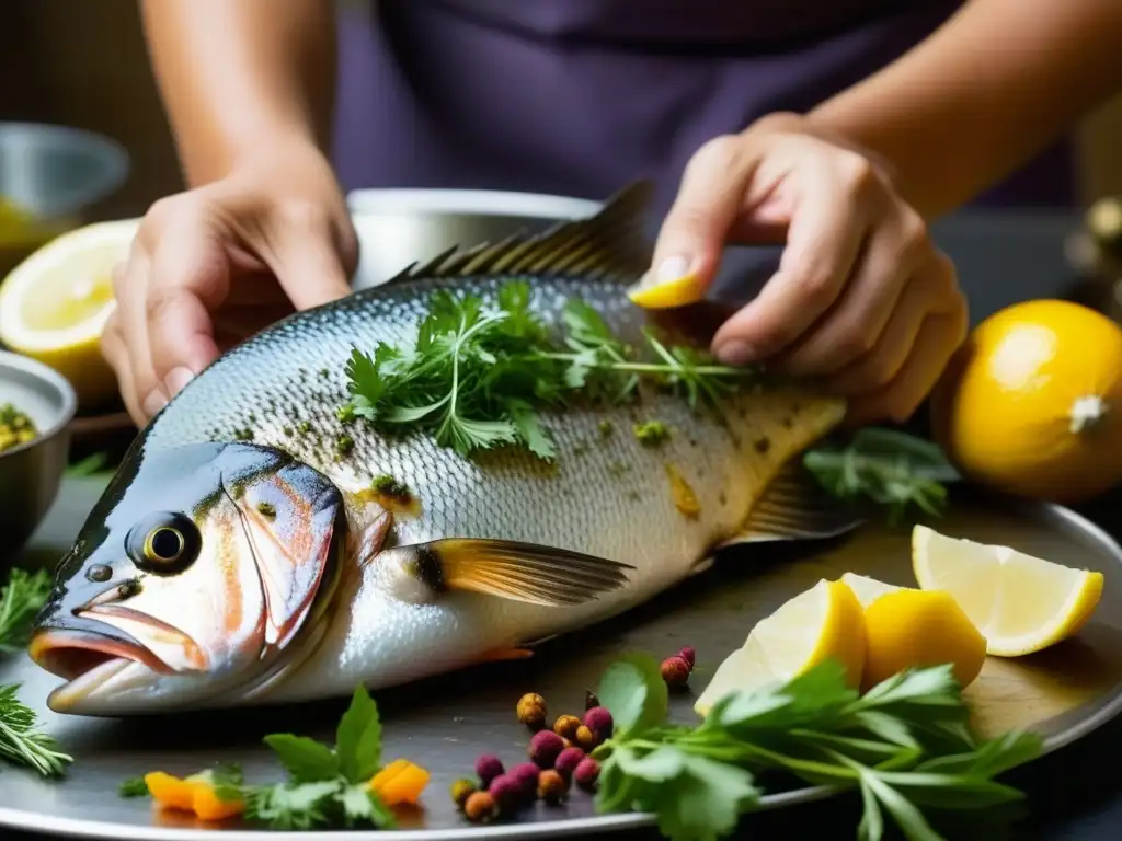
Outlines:
{"label": "small metal bowl of green seasoning at left edge, below halved lemon", "polygon": [[0,453],[0,560],[24,548],[58,495],[77,397],[70,382],[34,359],[0,351],[0,405],[26,413],[38,435]]}

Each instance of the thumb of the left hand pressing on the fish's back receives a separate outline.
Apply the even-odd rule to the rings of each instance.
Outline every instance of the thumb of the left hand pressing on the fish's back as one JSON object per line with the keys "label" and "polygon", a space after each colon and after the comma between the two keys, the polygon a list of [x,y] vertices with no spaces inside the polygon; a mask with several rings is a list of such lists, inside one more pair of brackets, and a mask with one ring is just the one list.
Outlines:
{"label": "thumb of the left hand pressing on the fish's back", "polygon": [[329,304],[350,294],[343,248],[332,235],[330,223],[284,225],[269,237],[269,268],[297,309]]}

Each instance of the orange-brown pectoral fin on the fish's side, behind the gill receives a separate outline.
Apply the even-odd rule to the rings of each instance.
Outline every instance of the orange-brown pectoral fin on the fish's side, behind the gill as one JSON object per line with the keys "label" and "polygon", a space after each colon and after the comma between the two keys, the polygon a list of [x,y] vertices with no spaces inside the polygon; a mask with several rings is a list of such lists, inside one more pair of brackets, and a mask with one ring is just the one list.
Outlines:
{"label": "orange-brown pectoral fin on the fish's side, behind the gill", "polygon": [[568,549],[513,540],[449,538],[384,552],[395,594],[427,602],[448,591],[561,607],[581,604],[627,583],[633,566]]}

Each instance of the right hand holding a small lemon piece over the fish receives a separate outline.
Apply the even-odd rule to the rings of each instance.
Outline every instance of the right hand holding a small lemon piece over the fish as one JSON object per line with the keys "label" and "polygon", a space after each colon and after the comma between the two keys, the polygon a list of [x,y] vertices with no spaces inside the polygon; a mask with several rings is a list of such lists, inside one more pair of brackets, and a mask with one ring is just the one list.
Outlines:
{"label": "right hand holding a small lemon piece over the fish", "polygon": [[726,242],[784,237],[779,270],[716,331],[714,353],[817,379],[849,399],[848,423],[907,419],[966,335],[955,268],[886,167],[801,118],[698,150],[642,285],[691,275],[698,299]]}

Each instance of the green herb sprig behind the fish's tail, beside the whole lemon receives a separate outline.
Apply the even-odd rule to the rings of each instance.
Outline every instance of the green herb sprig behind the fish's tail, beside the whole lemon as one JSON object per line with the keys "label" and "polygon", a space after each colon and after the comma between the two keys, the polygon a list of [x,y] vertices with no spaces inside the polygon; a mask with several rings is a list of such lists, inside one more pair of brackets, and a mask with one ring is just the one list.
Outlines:
{"label": "green herb sprig behind the fish's tail, beside the whole lemon", "polygon": [[937,444],[877,427],[861,429],[845,446],[808,451],[802,463],[833,496],[864,496],[888,506],[892,523],[900,521],[910,503],[941,515],[946,483],[960,478]]}

